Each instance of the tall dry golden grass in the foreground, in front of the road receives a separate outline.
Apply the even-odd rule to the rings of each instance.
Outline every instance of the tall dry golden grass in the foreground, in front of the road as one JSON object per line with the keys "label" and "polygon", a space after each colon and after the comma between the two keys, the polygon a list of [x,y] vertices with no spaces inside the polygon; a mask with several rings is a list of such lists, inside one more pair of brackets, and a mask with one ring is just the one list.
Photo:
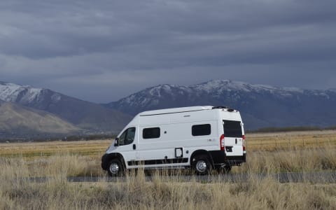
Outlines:
{"label": "tall dry golden grass in the foreground, in front of the road", "polygon": [[250,172],[246,181],[237,183],[225,182],[218,176],[209,183],[197,179],[184,181],[179,175],[165,179],[159,173],[153,175],[152,181],[146,181],[144,172],[138,171],[127,174],[125,180],[114,182],[102,177],[97,183],[70,183],[66,176],[74,173],[72,167],[76,162],[66,160],[68,158],[76,157],[50,158],[57,165],[43,169],[41,175],[45,173],[49,179],[42,183],[26,179],[31,168],[25,161],[2,158],[0,209],[336,208],[335,181],[329,184],[279,183],[272,176],[260,178]]}

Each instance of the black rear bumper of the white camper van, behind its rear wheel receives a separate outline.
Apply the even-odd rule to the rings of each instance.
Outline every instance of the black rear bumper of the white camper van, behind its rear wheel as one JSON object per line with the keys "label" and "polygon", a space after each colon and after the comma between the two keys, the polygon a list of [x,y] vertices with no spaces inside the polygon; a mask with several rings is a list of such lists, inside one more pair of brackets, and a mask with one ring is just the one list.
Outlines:
{"label": "black rear bumper of the white camper van, behind its rear wheel", "polygon": [[241,156],[228,156],[225,151],[209,151],[215,166],[218,165],[241,165],[246,162],[246,153]]}

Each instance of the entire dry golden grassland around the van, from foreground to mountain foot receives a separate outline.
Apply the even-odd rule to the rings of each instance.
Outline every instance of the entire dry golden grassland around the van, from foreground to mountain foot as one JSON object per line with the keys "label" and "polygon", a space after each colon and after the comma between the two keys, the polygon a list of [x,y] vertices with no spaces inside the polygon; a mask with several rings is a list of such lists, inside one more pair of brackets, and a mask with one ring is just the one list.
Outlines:
{"label": "entire dry golden grassland around the van, from foreground to mountain foot", "polygon": [[[247,134],[247,181],[162,179],[144,172],[107,182],[100,157],[112,140],[0,144],[0,209],[336,209],[333,183],[279,183],[278,172],[336,172],[336,132]],[[258,173],[269,174],[260,178]],[[29,177],[49,177],[38,183]],[[99,176],[71,183],[67,176]],[[225,176],[225,175],[224,175]],[[215,176],[214,176],[215,177]]]}

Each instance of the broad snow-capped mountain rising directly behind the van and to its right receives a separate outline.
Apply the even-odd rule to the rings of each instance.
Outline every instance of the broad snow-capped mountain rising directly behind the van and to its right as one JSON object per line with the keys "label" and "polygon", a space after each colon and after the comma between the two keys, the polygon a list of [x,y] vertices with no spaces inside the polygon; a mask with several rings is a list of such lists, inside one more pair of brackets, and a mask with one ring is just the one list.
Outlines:
{"label": "broad snow-capped mountain rising directly behind the van and to its right", "polygon": [[179,106],[230,106],[241,111],[246,128],[336,125],[336,90],[254,85],[211,80],[190,86],[158,85],[106,104],[131,115]]}

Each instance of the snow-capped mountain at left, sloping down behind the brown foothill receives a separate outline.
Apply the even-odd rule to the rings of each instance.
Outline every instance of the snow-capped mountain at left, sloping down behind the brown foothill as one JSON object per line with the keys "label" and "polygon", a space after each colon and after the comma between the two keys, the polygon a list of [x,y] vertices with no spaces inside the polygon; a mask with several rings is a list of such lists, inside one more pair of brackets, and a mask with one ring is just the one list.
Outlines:
{"label": "snow-capped mountain at left, sloping down behind the brown foothill", "polygon": [[83,130],[117,132],[130,120],[127,114],[100,104],[29,85],[0,82],[0,99],[52,113]]}

